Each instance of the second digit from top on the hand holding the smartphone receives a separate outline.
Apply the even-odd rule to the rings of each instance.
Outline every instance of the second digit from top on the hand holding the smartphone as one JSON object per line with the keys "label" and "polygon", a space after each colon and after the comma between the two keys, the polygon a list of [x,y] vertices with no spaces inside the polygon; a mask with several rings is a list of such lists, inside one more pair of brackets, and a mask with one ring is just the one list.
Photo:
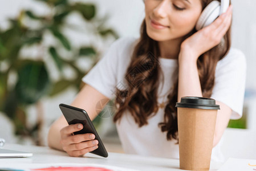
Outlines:
{"label": "second digit from top on the hand holding the smartphone", "polygon": [[78,134],[74,136],[68,136],[65,139],[62,139],[61,143],[62,144],[76,144],[76,143],[81,143],[83,141],[88,141],[88,140],[94,140],[95,135],[92,133],[84,133],[84,134]]}

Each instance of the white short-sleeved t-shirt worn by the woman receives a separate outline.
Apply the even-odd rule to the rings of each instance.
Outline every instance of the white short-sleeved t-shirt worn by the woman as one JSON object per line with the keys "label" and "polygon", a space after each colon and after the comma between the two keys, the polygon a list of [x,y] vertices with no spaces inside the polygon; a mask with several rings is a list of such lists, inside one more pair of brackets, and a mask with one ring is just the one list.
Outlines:
{"label": "white short-sleeved t-shirt worn by the woman", "polygon": [[[94,68],[82,79],[84,83],[97,89],[112,99],[115,87],[125,89],[124,76],[138,38],[124,37],[112,43],[111,47]],[[173,73],[177,59],[159,58],[164,74],[164,85],[159,86],[159,103],[167,100],[169,88],[173,86]],[[174,75],[175,76],[175,75]],[[245,93],[246,60],[241,51],[231,48],[229,54],[217,64],[216,79],[212,98],[232,109],[231,119],[242,116]],[[162,87],[163,86],[163,87]],[[166,140],[166,132],[161,132],[158,124],[164,120],[164,108],[148,119],[148,125],[139,128],[127,111],[116,123],[117,132],[125,153],[146,156],[178,158],[177,140]],[[224,161],[220,151],[221,141],[212,150],[212,160]]]}

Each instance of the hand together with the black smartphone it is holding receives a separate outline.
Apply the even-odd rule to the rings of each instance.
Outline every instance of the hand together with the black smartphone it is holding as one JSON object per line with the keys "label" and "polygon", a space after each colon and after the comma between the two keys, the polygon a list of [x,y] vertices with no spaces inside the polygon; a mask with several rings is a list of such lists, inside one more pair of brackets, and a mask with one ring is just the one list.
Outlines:
{"label": "hand together with the black smartphone it is holding", "polygon": [[87,112],[66,104],[60,104],[59,107],[69,124],[60,131],[63,150],[74,157],[83,156],[88,152],[107,157],[107,150]]}

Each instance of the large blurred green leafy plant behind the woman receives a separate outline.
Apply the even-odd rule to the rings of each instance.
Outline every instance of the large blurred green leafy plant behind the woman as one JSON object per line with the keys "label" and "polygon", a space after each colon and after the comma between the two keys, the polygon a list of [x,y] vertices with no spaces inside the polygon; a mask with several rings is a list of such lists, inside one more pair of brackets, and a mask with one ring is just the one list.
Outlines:
{"label": "large blurred green leafy plant behind the woman", "polygon": [[[35,1],[46,4],[50,14],[39,16],[31,10],[22,10],[17,18],[10,19],[7,30],[0,28],[0,111],[13,120],[17,135],[34,136],[36,144],[40,144],[36,138],[42,120],[38,120],[32,128],[27,127],[27,107],[36,105],[40,108],[42,97],[55,96],[69,87],[79,90],[82,77],[90,69],[83,71],[76,63],[81,58],[90,58],[92,67],[100,56],[99,50],[92,44],[79,47],[71,44],[62,28],[70,27],[78,32],[79,29],[68,24],[67,17],[74,13],[80,14],[86,25],[90,26],[87,33],[99,40],[105,40],[108,36],[116,39],[118,35],[112,28],[105,27],[108,16],[96,18],[96,7],[91,3],[70,3],[67,0]],[[27,24],[31,22],[36,22],[36,27]],[[47,34],[55,39],[54,44],[45,43]],[[82,32],[80,34],[85,36]],[[29,54],[25,56],[22,50],[26,48],[36,49],[36,58],[31,59]],[[50,62],[53,61],[58,68],[58,80],[50,76],[46,54],[51,56]],[[72,58],[67,59],[63,54],[69,54]],[[72,79],[64,76],[65,67],[71,68],[75,73]],[[40,117],[42,118],[38,116]]]}

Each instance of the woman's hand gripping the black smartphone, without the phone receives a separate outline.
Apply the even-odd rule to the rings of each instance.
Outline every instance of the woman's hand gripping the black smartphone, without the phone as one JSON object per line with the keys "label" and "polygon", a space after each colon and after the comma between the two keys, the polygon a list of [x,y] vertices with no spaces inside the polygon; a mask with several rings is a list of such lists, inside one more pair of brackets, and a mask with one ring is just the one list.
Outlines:
{"label": "woman's hand gripping the black smartphone, without the phone", "polygon": [[82,124],[72,124],[60,130],[60,144],[64,151],[72,157],[80,157],[97,149],[99,143],[92,133],[73,135],[83,129]]}

